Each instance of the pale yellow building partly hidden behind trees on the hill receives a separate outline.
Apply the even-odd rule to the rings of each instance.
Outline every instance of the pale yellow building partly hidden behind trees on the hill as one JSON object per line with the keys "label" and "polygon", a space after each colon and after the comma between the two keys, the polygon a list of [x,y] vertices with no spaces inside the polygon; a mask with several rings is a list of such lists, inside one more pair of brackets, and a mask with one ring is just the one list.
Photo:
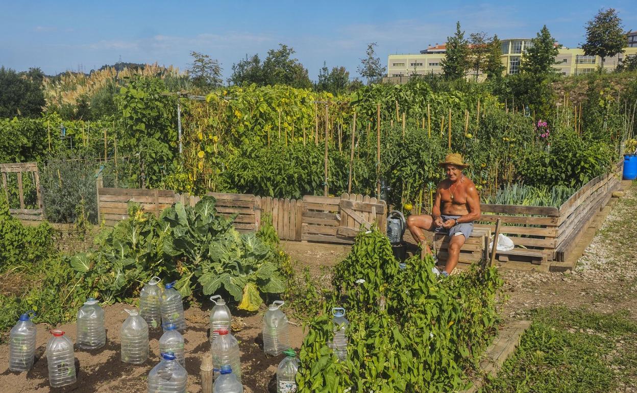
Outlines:
{"label": "pale yellow building partly hidden behind trees on the hill", "polygon": [[[533,45],[530,38],[512,38],[502,40],[502,64],[506,66],[504,73],[516,74],[520,71],[520,62],[528,48]],[[403,83],[409,76],[418,74],[442,73],[441,61],[445,58],[445,45],[430,46],[420,54],[389,55],[387,59],[387,78],[385,82]],[[605,71],[613,71],[627,56],[637,55],[637,48],[624,48],[624,53],[604,59]],[[580,48],[559,49],[555,56],[555,69],[562,75],[580,75],[596,71],[601,65],[599,56],[584,55]],[[469,71],[468,78],[475,78],[474,71]],[[478,80],[484,75],[479,72]]]}

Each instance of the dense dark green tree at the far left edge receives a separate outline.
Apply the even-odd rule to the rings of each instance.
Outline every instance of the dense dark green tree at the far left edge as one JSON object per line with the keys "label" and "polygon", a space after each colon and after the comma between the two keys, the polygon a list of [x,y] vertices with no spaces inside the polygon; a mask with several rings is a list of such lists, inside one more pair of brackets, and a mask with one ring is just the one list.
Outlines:
{"label": "dense dark green tree at the far left edge", "polygon": [[0,117],[36,117],[45,106],[39,68],[17,73],[13,69],[0,68]]}

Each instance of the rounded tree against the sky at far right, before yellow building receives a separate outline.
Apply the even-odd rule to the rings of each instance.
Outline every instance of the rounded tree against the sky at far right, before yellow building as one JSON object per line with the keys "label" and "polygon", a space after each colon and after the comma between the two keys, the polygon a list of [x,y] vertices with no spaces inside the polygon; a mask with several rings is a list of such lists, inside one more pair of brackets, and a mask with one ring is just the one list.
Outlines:
{"label": "rounded tree against the sky at far right, before yellow building", "polygon": [[603,71],[605,57],[624,53],[627,41],[622,20],[615,8],[601,9],[586,23],[586,42],[582,44],[582,49],[586,55],[601,57],[600,71]]}

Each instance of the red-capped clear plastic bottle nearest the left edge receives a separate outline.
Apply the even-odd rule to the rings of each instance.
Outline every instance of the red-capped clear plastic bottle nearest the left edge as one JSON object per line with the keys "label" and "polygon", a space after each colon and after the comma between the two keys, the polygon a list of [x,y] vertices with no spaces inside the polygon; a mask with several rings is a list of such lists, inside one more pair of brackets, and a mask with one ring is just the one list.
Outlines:
{"label": "red-capped clear plastic bottle nearest the left edge", "polygon": [[73,341],[61,330],[52,330],[53,337],[47,343],[48,383],[61,387],[75,383],[75,354]]}

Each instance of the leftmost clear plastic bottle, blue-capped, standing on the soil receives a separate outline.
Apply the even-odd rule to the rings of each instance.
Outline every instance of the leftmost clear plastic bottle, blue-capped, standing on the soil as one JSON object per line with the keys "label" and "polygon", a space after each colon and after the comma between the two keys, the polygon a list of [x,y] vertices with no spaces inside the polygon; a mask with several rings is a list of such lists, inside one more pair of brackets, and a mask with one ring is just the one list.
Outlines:
{"label": "leftmost clear plastic bottle, blue-capped, standing on the soil", "polygon": [[36,354],[36,325],[31,315],[20,315],[17,324],[11,328],[9,338],[9,369],[29,371],[33,367]]}

